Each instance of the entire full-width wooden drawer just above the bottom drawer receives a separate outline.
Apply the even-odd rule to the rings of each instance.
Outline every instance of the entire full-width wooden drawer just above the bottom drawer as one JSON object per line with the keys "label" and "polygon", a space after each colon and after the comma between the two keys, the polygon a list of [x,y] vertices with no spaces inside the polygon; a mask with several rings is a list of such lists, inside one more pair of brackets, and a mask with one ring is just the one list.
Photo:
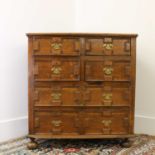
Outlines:
{"label": "entire full-width wooden drawer just above the bottom drawer", "polygon": [[128,85],[37,87],[35,106],[131,106]]}

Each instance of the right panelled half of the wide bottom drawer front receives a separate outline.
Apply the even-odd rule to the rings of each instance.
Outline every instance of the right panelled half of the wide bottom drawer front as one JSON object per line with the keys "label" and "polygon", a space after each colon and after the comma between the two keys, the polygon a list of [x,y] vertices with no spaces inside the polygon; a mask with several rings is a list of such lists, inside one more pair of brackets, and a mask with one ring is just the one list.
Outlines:
{"label": "right panelled half of the wide bottom drawer front", "polygon": [[[87,118],[87,119],[86,119]],[[104,109],[101,113],[87,112],[85,114],[85,134],[128,134],[129,114],[124,110]]]}

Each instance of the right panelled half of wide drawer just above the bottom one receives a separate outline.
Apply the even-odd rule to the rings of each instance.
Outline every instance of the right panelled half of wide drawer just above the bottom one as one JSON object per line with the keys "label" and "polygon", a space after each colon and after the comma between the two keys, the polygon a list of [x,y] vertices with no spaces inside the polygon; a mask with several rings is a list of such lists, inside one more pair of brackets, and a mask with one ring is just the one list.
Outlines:
{"label": "right panelled half of wide drawer just above the bottom one", "polygon": [[89,86],[83,96],[86,106],[131,106],[131,89],[127,86]]}

